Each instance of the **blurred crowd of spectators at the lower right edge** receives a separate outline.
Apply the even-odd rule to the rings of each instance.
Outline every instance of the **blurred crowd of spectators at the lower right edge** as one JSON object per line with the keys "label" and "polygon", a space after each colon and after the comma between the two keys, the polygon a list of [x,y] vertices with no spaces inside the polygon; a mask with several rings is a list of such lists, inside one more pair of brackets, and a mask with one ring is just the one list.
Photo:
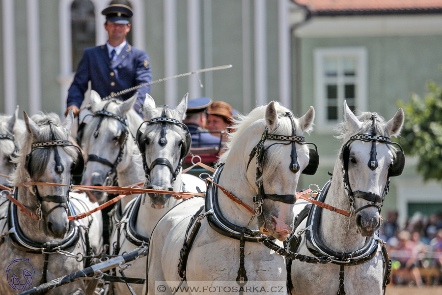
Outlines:
{"label": "blurred crowd of spectators at the lower right edge", "polygon": [[397,212],[387,212],[380,230],[392,260],[392,284],[442,284],[442,212],[416,212],[403,227],[397,218]]}

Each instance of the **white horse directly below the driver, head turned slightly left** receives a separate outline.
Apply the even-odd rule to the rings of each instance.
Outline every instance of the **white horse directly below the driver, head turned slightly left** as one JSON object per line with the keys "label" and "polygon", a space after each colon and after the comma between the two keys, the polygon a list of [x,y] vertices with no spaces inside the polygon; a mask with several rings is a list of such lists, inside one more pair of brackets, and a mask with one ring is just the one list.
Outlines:
{"label": "white horse directly below the driver, head turned slightly left", "polygon": [[[145,180],[141,156],[134,135],[143,119],[133,106],[137,95],[126,101],[101,100],[91,91],[92,117],[86,117],[87,124],[79,131],[81,146],[87,155],[83,185],[111,185],[118,176],[118,185],[128,186]],[[104,201],[106,194],[89,191],[92,202]],[[121,199],[121,207],[135,197]]]}

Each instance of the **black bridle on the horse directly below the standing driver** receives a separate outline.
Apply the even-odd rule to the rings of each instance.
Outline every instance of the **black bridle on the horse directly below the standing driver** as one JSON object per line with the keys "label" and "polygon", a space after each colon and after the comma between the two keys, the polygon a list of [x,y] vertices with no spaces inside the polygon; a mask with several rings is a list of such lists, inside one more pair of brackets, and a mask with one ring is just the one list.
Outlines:
{"label": "black bridle on the horse directly below the standing driver", "polygon": [[[93,117],[100,117],[100,121],[98,122],[97,129],[94,132],[94,137],[95,138],[98,137],[98,134],[100,133],[101,122],[103,121],[103,119],[105,117],[110,117],[110,118],[114,118],[114,119],[118,120],[121,123],[121,134],[118,137],[118,145],[120,146],[120,150],[118,152],[118,155],[117,155],[117,157],[116,157],[116,159],[115,159],[115,161],[113,163],[111,163],[110,161],[106,160],[105,158],[102,158],[102,157],[100,157],[98,155],[95,155],[95,154],[88,154],[87,155],[87,162],[89,162],[89,161],[99,162],[99,163],[102,163],[102,164],[104,164],[106,166],[111,167],[111,170],[107,174],[105,183],[103,183],[103,185],[105,185],[105,186],[111,186],[113,184],[113,182],[115,181],[116,167],[118,166],[118,164],[123,159],[124,145],[125,145],[125,143],[127,141],[127,138],[129,136],[129,129],[127,128],[127,125],[128,125],[127,118],[126,117],[121,117],[121,116],[118,116],[116,114],[113,114],[111,112],[106,111],[107,106],[112,101],[115,102],[115,99],[110,100],[104,106],[102,111],[98,111],[98,112],[95,112],[93,114]],[[92,116],[92,115],[87,115],[87,116]],[[78,141],[79,141],[79,143],[81,143],[81,141],[82,141],[84,125],[85,125],[85,123],[84,123],[84,119],[83,119],[83,122],[79,126],[79,132],[78,132]],[[111,178],[112,174],[114,174],[115,177]]]}

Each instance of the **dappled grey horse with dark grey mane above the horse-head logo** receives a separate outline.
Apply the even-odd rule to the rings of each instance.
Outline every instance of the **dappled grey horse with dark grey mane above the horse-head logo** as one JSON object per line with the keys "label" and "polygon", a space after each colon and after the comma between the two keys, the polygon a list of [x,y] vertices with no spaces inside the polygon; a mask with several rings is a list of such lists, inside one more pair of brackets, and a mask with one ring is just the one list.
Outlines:
{"label": "dappled grey horse with dark grey mane above the horse-head logo", "polygon": [[[0,268],[7,273],[0,276],[2,295],[25,291],[85,266],[86,261],[78,262],[56,250],[84,255],[102,250],[100,214],[80,222],[68,220],[68,214],[93,208],[84,195],[77,194],[72,198],[75,201],[68,201],[68,186],[23,185],[27,181],[69,185],[71,174],[83,172],[81,153],[69,141],[72,111],[61,125],[56,114],[37,114],[31,119],[25,113],[24,118],[28,134],[14,160],[17,169],[12,175],[13,196],[38,220],[8,202],[7,220],[0,220]],[[86,226],[90,248],[84,242]],[[76,281],[46,294],[93,294],[95,284]]]}

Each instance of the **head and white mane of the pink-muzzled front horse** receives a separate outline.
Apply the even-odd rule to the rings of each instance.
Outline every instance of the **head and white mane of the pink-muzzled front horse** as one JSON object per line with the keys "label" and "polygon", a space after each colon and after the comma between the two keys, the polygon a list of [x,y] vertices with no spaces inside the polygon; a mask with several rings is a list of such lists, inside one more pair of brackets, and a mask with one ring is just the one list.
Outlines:
{"label": "head and white mane of the pink-muzzled front horse", "polygon": [[256,108],[237,120],[237,131],[231,135],[228,150],[220,159],[225,161],[225,172],[234,162],[238,165],[240,157],[246,159],[244,171],[237,169],[246,176],[234,175],[236,180],[224,181],[223,185],[247,178],[241,188],[230,186],[229,190],[241,196],[247,188],[252,188],[254,197],[249,201],[255,209],[261,207],[257,227],[262,234],[281,241],[293,230],[294,194],[299,177],[301,173],[314,174],[317,168],[316,150],[304,145],[303,136],[304,132],[311,131],[314,116],[314,109],[310,107],[302,118],[295,118],[290,110],[273,101]]}

